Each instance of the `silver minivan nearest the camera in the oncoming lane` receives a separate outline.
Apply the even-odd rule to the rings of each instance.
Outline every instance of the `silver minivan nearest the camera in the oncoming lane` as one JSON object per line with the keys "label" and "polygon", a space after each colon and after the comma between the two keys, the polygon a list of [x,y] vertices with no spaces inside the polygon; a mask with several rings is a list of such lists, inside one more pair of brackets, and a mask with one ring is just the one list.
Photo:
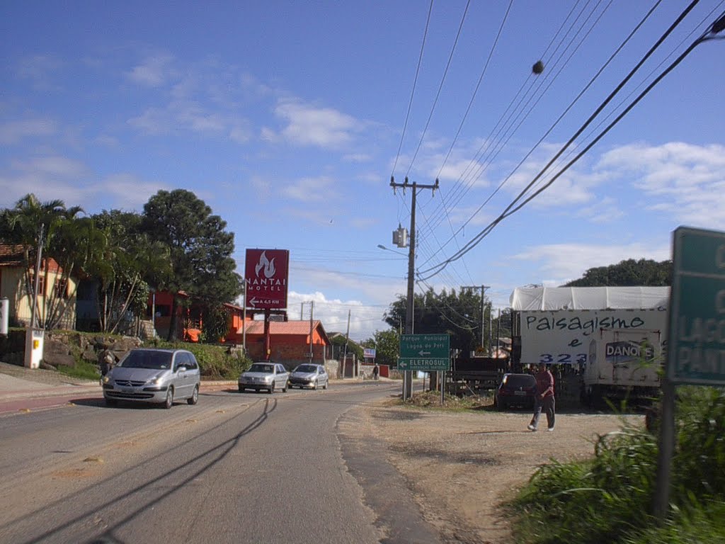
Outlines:
{"label": "silver minivan nearest the camera in the oncoming lane", "polygon": [[171,408],[175,400],[199,401],[201,372],[187,350],[130,350],[101,380],[107,405],[119,400]]}

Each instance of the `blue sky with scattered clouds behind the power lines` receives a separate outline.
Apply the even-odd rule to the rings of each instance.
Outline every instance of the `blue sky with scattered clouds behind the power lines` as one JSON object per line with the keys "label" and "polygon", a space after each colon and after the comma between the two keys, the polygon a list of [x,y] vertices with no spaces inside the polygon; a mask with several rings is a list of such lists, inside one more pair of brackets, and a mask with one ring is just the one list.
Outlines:
{"label": "blue sky with scattered clouds behind the power lines", "polygon": [[[426,32],[422,0],[7,0],[0,206],[33,192],[88,213],[141,211],[159,189],[194,191],[235,234],[240,273],[248,247],[289,250],[291,318],[309,318],[302,302],[314,300],[328,331],[345,331],[349,313],[354,339],[386,329],[381,316],[406,289],[407,250],[391,233],[410,222],[410,191],[394,194],[391,176],[439,178],[434,196],[418,192],[418,291],[485,284],[505,308],[518,286],[664,260],[679,225],[725,230],[723,41],[697,46],[548,189],[436,268],[505,210],[686,3],[660,2],[597,75],[655,4],[436,0]],[[574,154],[723,6],[700,1]]]}

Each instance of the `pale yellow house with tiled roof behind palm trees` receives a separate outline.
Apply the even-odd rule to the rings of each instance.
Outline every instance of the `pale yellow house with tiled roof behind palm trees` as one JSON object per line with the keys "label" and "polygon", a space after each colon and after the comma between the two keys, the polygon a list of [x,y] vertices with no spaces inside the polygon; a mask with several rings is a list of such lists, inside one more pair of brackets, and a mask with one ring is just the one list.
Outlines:
{"label": "pale yellow house with tiled roof behind palm trees", "polygon": [[[26,287],[26,271],[34,283],[34,267],[26,268],[22,246],[0,244],[0,298],[9,302],[11,326],[30,326],[32,309]],[[75,329],[76,282],[65,281],[62,269],[53,259],[43,259],[38,279],[37,323],[47,323],[51,313],[61,315],[54,328]]]}

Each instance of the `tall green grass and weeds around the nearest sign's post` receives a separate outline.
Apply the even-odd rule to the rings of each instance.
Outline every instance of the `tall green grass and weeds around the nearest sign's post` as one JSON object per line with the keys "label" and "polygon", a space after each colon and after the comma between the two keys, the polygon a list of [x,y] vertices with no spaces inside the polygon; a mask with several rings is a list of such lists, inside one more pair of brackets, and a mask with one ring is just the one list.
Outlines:
{"label": "tall green grass and weeds around the nearest sign's post", "polygon": [[[507,505],[515,542],[684,544],[725,542],[725,392],[681,387],[670,514],[652,515],[658,434],[623,420],[588,461],[542,466]],[[658,425],[655,425],[658,426]]]}

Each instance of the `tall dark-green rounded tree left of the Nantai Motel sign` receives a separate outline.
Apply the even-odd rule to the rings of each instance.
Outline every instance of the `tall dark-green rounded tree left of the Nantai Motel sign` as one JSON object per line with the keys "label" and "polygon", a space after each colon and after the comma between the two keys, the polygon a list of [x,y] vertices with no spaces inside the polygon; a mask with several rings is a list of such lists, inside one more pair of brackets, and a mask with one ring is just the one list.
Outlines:
{"label": "tall dark-green rounded tree left of the Nantai Motel sign", "polygon": [[241,276],[231,257],[234,235],[226,223],[191,191],[159,191],[144,205],[141,228],[170,250],[173,273],[159,286],[173,294],[169,340],[175,338],[178,293],[207,308],[232,302],[241,294]]}

